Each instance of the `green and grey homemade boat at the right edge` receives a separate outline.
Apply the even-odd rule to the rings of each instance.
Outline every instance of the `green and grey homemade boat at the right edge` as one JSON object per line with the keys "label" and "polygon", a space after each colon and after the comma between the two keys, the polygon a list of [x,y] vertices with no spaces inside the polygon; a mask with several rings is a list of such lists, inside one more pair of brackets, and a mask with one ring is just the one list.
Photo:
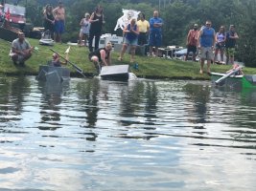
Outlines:
{"label": "green and grey homemade boat at the right edge", "polygon": [[[226,74],[211,73],[211,81],[216,84],[216,81]],[[231,89],[256,89],[256,74],[232,74],[224,78],[218,86]]]}

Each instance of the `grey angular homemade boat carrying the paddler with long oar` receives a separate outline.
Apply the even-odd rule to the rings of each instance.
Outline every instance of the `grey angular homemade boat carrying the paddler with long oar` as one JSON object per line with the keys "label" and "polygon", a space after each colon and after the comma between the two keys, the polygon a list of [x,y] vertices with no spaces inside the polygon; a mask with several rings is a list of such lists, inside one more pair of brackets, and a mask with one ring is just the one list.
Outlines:
{"label": "grey angular homemade boat carrying the paddler with long oar", "polygon": [[47,82],[67,81],[70,80],[70,71],[64,67],[41,65],[36,79]]}

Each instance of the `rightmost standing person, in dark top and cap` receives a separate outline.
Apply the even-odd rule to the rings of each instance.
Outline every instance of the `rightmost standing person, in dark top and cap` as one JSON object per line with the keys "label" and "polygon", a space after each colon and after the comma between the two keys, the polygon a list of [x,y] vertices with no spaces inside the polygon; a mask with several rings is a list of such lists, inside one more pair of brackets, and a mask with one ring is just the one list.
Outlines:
{"label": "rightmost standing person, in dark top and cap", "polygon": [[228,64],[229,60],[232,65],[234,65],[234,57],[235,57],[235,47],[236,40],[239,38],[238,33],[235,32],[235,26],[230,25],[229,32],[226,32],[226,40],[225,40],[225,51],[226,51],[226,61]]}

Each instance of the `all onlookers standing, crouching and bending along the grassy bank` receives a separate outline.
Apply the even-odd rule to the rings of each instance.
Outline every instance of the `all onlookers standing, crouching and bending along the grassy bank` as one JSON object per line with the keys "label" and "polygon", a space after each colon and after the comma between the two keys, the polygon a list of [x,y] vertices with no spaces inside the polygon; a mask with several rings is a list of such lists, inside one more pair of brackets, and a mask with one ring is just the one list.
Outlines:
{"label": "all onlookers standing, crouching and bending along the grassy bank", "polygon": [[[45,31],[51,32],[54,40],[61,43],[61,34],[65,31],[65,9],[63,3],[59,1],[58,7],[55,9],[51,5],[47,5],[43,11],[43,15]],[[101,6],[97,6],[91,15],[85,12],[80,22],[81,30],[78,43],[81,46],[86,46],[88,41],[89,59],[92,62],[98,62],[98,65],[109,65],[111,63],[111,60],[109,60],[111,59],[111,43],[107,43],[105,48],[99,49],[99,41],[104,24],[105,15]],[[130,19],[128,25],[123,30],[124,43],[118,60],[123,60],[124,54],[129,47],[130,62],[133,63],[136,47],[145,45],[150,48],[149,55],[158,56],[158,48],[162,45],[163,24],[164,22],[159,17],[158,11],[153,11],[153,15],[149,21],[143,12],[139,14],[138,20],[137,18]],[[82,44],[83,38],[84,44]],[[193,29],[187,35],[187,54],[185,60],[188,60],[189,54],[193,53],[192,60],[196,61],[196,55],[198,53],[200,58],[200,74],[203,74],[205,61],[207,61],[207,73],[210,73],[210,65],[212,62],[218,61],[219,53],[221,54],[221,63],[224,60],[223,55],[225,53],[226,64],[229,61],[231,64],[234,64],[235,46],[238,38],[239,36],[235,32],[234,25],[230,25],[228,32],[225,32],[224,26],[220,27],[219,32],[215,32],[209,20],[199,30],[198,24],[194,24]],[[29,49],[30,45],[24,40],[24,34],[20,35],[19,40],[16,40],[15,43],[12,43],[12,60],[14,63],[22,57],[21,55],[17,56],[19,51],[16,51],[15,44],[23,41]],[[24,63],[30,56],[31,51],[28,55],[23,56],[24,60],[21,60],[21,63]]]}

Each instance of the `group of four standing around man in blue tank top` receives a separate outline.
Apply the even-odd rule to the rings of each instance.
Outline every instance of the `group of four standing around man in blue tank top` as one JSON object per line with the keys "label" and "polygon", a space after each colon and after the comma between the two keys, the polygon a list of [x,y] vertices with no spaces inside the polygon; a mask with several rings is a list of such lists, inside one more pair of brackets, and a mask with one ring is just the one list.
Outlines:
{"label": "group of four standing around man in blue tank top", "polygon": [[[215,32],[212,28],[212,22],[207,20],[198,31],[198,24],[188,32],[187,35],[187,54],[185,60],[188,59],[189,53],[193,53],[193,60],[196,61],[198,52],[200,58],[200,74],[203,74],[203,65],[207,61],[207,73],[210,73],[211,63],[221,62],[222,64],[234,65],[236,40],[239,38],[235,31],[235,26],[230,25],[229,31],[225,32],[224,26],[220,27],[219,32]],[[221,61],[218,60],[218,54],[221,54]],[[226,56],[224,62],[224,53]]]}

